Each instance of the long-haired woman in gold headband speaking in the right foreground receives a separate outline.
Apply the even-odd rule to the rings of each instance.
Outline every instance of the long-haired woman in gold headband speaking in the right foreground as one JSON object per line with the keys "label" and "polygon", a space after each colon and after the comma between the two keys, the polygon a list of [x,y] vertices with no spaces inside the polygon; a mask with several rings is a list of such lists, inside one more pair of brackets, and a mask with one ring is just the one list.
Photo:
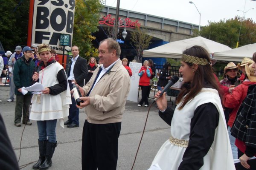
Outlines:
{"label": "long-haired woman in gold headband speaking in the right foreground", "polygon": [[166,93],[155,95],[159,114],[171,115],[170,138],[152,165],[162,170],[235,170],[218,85],[209,54],[200,46],[186,49],[179,72],[184,84],[175,111]]}

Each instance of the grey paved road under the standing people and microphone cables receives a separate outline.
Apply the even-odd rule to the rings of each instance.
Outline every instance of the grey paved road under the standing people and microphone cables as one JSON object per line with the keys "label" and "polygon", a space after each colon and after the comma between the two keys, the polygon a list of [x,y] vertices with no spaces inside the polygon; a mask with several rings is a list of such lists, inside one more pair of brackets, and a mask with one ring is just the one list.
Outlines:
{"label": "grey paved road under the standing people and microphone cables", "polygon": [[[151,97],[153,97],[151,92]],[[0,112],[3,116],[9,138],[15,150],[19,165],[37,161],[38,151],[38,130],[35,121],[31,126],[26,126],[22,136],[24,125],[15,127],[14,111],[15,102],[6,102],[9,97],[9,87],[0,86]],[[150,103],[152,100],[150,101]],[[136,102],[127,101],[125,113],[122,120],[121,134],[119,137],[119,158],[117,170],[131,170],[135,153],[142,135],[148,108],[137,107]],[[148,122],[145,128],[143,140],[137,155],[134,170],[147,170],[154,159],[160,146],[169,139],[169,125],[163,122],[158,116],[157,108],[152,106],[149,112]],[[81,141],[82,128],[86,115],[84,109],[80,110],[80,127],[62,128],[56,127],[58,146],[52,158],[52,167],[49,170],[81,170]],[[31,170],[32,164],[24,167],[23,170]]]}

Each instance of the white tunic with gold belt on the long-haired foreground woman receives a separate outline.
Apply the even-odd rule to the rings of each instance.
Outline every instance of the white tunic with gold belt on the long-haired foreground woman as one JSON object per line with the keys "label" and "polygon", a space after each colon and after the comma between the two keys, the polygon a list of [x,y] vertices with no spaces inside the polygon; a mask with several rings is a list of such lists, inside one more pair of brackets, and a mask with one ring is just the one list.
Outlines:
{"label": "white tunic with gold belt on the long-haired foreground woman", "polygon": [[[235,170],[221,99],[215,89],[202,88],[201,92],[181,110],[177,109],[181,103],[177,105],[171,123],[171,136],[189,141],[190,122],[195,109],[209,102],[215,105],[220,116],[214,141],[207,155],[204,156],[204,165],[200,170]],[[177,146],[167,140],[158,151],[152,165],[158,163],[162,170],[177,170],[185,150],[186,147]]]}

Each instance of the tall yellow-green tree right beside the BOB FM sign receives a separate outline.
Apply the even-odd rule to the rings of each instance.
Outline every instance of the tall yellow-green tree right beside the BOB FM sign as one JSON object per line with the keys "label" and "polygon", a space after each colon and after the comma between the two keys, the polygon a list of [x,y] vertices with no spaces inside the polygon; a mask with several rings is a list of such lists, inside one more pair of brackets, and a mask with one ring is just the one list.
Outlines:
{"label": "tall yellow-green tree right beside the BOB FM sign", "polygon": [[93,47],[92,40],[98,31],[99,12],[102,9],[100,0],[76,0],[73,45],[79,46],[82,57],[97,57],[98,49]]}

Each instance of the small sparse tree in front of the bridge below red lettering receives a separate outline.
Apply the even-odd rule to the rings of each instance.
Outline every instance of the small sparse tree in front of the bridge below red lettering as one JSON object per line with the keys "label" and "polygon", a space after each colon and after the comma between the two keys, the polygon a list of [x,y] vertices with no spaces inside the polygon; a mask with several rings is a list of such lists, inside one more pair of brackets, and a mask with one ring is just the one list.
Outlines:
{"label": "small sparse tree in front of the bridge below red lettering", "polygon": [[136,27],[136,30],[131,32],[131,45],[134,45],[137,52],[137,62],[141,61],[143,50],[151,43],[152,37],[145,32],[148,32],[147,29],[140,27]]}

